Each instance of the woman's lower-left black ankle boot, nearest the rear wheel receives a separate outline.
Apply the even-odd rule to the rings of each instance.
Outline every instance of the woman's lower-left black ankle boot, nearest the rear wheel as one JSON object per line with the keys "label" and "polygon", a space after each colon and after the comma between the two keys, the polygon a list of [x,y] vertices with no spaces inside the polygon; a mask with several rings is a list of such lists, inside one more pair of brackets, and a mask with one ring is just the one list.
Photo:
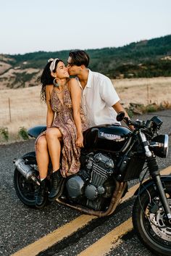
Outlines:
{"label": "woman's lower-left black ankle boot, nearest the rear wheel", "polygon": [[47,186],[46,186],[46,178],[40,182],[40,186],[38,187],[38,191],[36,194],[35,205],[38,208],[44,207],[47,201]]}

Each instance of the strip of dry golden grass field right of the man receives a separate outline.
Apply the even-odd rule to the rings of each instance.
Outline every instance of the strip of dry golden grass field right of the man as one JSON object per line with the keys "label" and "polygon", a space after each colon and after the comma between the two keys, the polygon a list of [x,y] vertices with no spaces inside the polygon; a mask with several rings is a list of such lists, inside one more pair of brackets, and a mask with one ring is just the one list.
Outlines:
{"label": "strip of dry golden grass field right of the man", "polygon": [[171,102],[171,78],[124,79],[113,83],[125,107],[130,102],[144,105]]}

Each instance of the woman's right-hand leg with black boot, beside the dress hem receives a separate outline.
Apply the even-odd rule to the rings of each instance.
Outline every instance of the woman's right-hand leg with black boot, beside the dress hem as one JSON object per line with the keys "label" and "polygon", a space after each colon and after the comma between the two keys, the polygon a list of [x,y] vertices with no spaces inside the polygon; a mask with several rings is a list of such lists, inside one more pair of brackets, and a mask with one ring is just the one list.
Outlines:
{"label": "woman's right-hand leg with black boot, beside the dress hem", "polygon": [[46,131],[46,139],[53,167],[53,173],[51,175],[52,184],[51,192],[49,194],[49,200],[53,201],[56,197],[59,196],[59,192],[63,183],[63,179],[59,171],[59,160],[61,154],[60,140],[62,139],[62,133],[59,131],[58,128],[49,128]]}

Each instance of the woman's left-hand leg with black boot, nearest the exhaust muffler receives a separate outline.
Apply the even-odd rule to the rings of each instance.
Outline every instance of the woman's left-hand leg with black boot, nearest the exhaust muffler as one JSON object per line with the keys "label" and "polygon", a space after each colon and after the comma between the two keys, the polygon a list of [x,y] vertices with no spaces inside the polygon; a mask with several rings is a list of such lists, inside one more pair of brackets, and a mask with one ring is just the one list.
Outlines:
{"label": "woman's left-hand leg with black boot, nearest the exhaust muffler", "polygon": [[46,205],[48,191],[46,186],[46,176],[48,173],[49,152],[45,135],[41,136],[36,142],[36,160],[41,181],[36,194],[35,205],[36,207],[41,208]]}

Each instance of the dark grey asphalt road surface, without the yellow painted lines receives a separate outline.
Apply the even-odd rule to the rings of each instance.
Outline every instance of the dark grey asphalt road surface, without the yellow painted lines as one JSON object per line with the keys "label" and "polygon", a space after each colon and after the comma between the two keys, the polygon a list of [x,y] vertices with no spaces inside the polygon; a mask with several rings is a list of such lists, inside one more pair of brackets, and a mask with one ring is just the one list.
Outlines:
{"label": "dark grey asphalt road surface, without the yellow painted lines", "polygon": [[[161,133],[171,133],[170,110],[142,115],[138,118],[145,120],[154,115],[159,115],[163,120]],[[135,117],[133,119],[135,120]],[[33,150],[34,140],[0,146],[0,255],[3,256],[12,255],[22,247],[81,215],[80,212],[58,205],[57,202],[51,203],[43,210],[28,208],[17,198],[13,186],[12,160]],[[170,166],[171,150],[167,159],[160,159],[158,163],[160,169]],[[129,185],[132,186],[132,184]],[[83,249],[130,218],[132,206],[133,199],[118,207],[115,215],[102,218],[100,221],[94,220],[90,226],[39,255],[78,255]],[[148,249],[143,247],[133,231],[123,236],[122,240],[122,244],[109,255],[152,255]]]}

